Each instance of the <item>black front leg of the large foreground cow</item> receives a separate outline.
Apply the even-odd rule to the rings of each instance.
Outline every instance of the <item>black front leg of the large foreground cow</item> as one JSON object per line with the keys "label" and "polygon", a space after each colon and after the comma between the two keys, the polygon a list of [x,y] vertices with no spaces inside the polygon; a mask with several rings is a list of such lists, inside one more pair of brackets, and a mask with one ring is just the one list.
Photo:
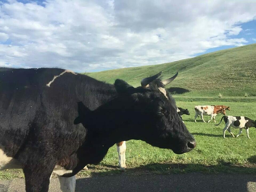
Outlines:
{"label": "black front leg of the large foreground cow", "polygon": [[[41,158],[40,158],[41,157]],[[42,156],[38,161],[27,162],[23,168],[26,192],[48,192],[50,177],[56,161],[45,160]]]}

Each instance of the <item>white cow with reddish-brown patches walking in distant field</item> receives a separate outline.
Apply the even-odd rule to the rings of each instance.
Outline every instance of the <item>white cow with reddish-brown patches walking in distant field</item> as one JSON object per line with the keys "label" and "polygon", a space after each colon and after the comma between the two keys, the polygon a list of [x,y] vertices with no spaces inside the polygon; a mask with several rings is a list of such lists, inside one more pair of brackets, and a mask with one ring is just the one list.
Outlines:
{"label": "white cow with reddish-brown patches walking in distant field", "polygon": [[210,106],[210,105],[195,106],[196,115],[195,115],[195,119],[194,120],[196,122],[196,118],[198,117],[198,115],[200,115],[202,121],[205,122],[204,118],[203,118],[203,115],[210,115],[211,119],[208,120],[208,122],[210,122],[212,120],[212,118],[213,118],[214,122],[216,123],[216,121],[215,121],[216,115],[219,114],[219,113],[222,113],[222,114],[226,115],[226,109],[230,110],[230,107],[218,108],[216,106]]}

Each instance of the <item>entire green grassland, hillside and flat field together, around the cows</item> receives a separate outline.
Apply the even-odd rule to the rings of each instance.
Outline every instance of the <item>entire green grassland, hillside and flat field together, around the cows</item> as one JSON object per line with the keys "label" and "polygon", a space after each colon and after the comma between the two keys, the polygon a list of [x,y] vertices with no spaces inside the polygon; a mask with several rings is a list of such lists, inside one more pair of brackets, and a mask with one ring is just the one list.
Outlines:
{"label": "entire green grassland, hillside and flat field together, around the cows", "polygon": [[[256,44],[241,46],[204,54],[176,62],[116,69],[96,73],[84,73],[98,80],[114,83],[116,78],[124,79],[133,86],[140,80],[163,71],[162,78],[169,78],[177,71],[178,77],[167,86],[186,88],[189,92],[173,94],[177,106],[187,108],[190,116],[183,115],[184,123],[196,138],[197,146],[189,153],[177,155],[171,150],[152,147],[140,140],[126,142],[126,174],[168,174],[181,172],[204,173],[256,173],[256,129],[249,128],[251,139],[245,130],[238,138],[226,132],[223,138],[224,122],[203,123],[198,117],[194,122],[194,106],[226,105],[231,110],[227,115],[247,116],[256,120]],[[249,96],[245,96],[249,94]],[[219,96],[221,94],[222,96]],[[210,116],[204,116],[209,120]],[[231,129],[234,135],[239,130]],[[125,131],[125,130],[124,130]],[[120,174],[116,146],[112,146],[104,160],[97,166],[89,165],[88,171],[78,176]],[[23,177],[21,170],[5,170],[0,178]]]}

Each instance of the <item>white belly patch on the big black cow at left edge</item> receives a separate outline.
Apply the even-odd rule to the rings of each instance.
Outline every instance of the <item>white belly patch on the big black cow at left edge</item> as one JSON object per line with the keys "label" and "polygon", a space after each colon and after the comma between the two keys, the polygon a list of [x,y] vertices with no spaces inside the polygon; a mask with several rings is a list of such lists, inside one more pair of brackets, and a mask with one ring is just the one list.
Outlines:
{"label": "white belly patch on the big black cow at left edge", "polygon": [[0,170],[5,169],[18,169],[21,168],[21,164],[18,160],[8,157],[2,149],[0,149]]}

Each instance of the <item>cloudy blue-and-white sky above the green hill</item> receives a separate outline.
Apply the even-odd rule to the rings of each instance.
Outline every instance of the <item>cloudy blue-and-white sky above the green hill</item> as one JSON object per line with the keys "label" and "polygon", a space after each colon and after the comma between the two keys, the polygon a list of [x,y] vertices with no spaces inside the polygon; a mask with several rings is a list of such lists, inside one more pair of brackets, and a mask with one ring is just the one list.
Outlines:
{"label": "cloudy blue-and-white sky above the green hill", "polygon": [[0,67],[96,72],[256,43],[255,0],[0,0]]}

